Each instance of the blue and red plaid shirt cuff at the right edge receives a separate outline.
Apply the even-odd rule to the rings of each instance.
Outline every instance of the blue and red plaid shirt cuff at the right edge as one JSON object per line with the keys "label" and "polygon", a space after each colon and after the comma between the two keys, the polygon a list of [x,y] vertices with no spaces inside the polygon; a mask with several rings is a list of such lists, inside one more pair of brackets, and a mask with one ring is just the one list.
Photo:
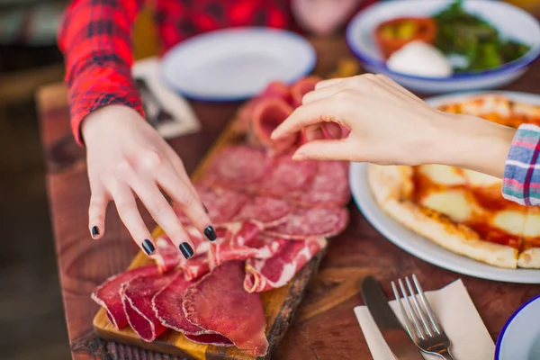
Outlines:
{"label": "blue and red plaid shirt cuff at the right edge", "polygon": [[502,195],[522,205],[540,204],[540,128],[532,124],[519,127],[509,151]]}

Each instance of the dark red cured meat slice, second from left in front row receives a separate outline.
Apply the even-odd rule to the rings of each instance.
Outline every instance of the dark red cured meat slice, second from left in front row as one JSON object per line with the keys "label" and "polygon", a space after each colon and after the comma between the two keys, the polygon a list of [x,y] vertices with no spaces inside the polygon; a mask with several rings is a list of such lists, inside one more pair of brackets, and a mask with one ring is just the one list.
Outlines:
{"label": "dark red cured meat slice, second from left in front row", "polygon": [[170,284],[178,272],[137,277],[121,287],[121,301],[128,322],[141,339],[154,341],[166,328],[156,317],[152,307],[154,295]]}

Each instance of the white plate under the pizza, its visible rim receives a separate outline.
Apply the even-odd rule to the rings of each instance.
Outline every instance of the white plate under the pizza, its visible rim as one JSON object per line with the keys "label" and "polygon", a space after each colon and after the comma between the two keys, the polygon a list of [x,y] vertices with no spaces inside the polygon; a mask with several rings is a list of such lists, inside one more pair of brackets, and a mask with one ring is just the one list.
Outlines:
{"label": "white plate under the pizza, its visible rim", "polygon": [[[460,101],[472,94],[452,94],[428,99],[428,103],[437,106],[442,103]],[[504,94],[510,99],[524,103],[540,104],[540,96],[536,94],[523,94],[514,92],[490,92],[490,94]],[[540,270],[534,269],[503,269],[483,264],[480,261],[457,255],[444,247],[424,238],[416,232],[407,229],[397,220],[387,215],[375,202],[367,183],[367,164],[352,163],[349,171],[349,182],[353,197],[358,209],[364,214],[366,220],[371,222],[385,238],[401,247],[415,257],[440,266],[456,273],[481,277],[509,283],[540,284]]]}

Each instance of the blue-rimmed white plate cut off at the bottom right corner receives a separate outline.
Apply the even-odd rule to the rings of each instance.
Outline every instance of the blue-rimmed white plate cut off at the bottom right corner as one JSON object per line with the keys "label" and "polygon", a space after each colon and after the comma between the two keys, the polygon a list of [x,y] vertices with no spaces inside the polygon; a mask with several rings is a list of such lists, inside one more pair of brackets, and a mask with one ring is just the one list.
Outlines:
{"label": "blue-rimmed white plate cut off at the bottom right corner", "polygon": [[523,304],[500,331],[495,360],[540,359],[540,295]]}

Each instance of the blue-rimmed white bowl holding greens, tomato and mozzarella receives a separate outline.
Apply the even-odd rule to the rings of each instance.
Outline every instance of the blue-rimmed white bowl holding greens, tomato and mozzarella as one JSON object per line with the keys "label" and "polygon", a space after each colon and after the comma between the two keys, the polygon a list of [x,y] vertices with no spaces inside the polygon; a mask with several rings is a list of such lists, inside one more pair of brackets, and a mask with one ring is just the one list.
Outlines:
{"label": "blue-rimmed white bowl holding greens, tomato and mozzarella", "polygon": [[523,57],[483,71],[471,71],[447,77],[410,76],[386,67],[374,40],[375,27],[401,16],[431,16],[453,0],[407,0],[376,3],[367,7],[349,23],[347,44],[368,72],[385,74],[411,90],[423,93],[447,93],[482,90],[509,84],[522,76],[540,55],[540,24],[531,14],[512,5],[491,0],[465,0],[464,9],[495,26],[504,38],[526,43],[531,49]]}

